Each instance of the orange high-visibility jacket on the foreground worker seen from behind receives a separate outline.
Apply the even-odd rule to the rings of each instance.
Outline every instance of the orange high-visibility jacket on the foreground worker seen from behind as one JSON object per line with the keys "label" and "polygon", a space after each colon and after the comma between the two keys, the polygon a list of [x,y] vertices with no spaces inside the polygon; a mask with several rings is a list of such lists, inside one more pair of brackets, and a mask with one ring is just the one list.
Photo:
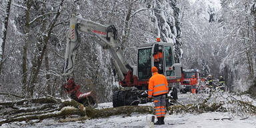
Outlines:
{"label": "orange high-visibility jacket on the foreground worker seen from behind", "polygon": [[153,76],[149,79],[149,93],[148,97],[151,98],[157,95],[163,95],[168,93],[168,83],[164,75],[157,72],[153,73]]}

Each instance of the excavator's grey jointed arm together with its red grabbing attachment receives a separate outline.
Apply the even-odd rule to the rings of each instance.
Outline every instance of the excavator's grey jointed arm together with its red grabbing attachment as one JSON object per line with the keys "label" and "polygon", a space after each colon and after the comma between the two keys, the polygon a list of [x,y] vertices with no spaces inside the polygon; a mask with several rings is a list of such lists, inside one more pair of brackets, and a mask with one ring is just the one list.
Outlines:
{"label": "excavator's grey jointed arm together with its red grabbing attachment", "polygon": [[[78,20],[80,22],[78,22]],[[129,71],[131,69],[127,68],[129,66],[127,66],[123,59],[123,51],[116,43],[117,30],[113,25],[101,25],[99,23],[87,21],[81,17],[76,17],[75,14],[72,14],[69,23],[69,31],[67,33],[67,45],[65,50],[64,76],[67,81],[63,85],[63,88],[65,89],[65,92],[70,95],[71,99],[83,103],[84,105],[95,105],[97,104],[95,101],[95,91],[81,93],[79,91],[80,86],[75,84],[73,79],[75,56],[77,54],[77,49],[81,44],[79,32],[94,35],[97,37],[97,43],[99,43],[103,49],[109,49],[114,60],[113,63],[115,65],[115,69],[117,69],[119,79],[123,81],[127,73],[131,74],[131,71]]]}

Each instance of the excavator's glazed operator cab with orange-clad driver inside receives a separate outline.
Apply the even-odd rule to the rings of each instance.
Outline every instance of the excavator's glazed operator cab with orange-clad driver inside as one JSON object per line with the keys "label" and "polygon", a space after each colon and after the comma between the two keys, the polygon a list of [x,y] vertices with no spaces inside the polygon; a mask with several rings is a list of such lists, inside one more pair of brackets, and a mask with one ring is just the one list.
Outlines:
{"label": "excavator's glazed operator cab with orange-clad driver inside", "polygon": [[139,81],[146,81],[152,76],[151,67],[155,66],[158,72],[165,75],[169,83],[177,83],[181,79],[181,64],[174,63],[171,43],[151,43],[142,45],[138,49],[138,76]]}

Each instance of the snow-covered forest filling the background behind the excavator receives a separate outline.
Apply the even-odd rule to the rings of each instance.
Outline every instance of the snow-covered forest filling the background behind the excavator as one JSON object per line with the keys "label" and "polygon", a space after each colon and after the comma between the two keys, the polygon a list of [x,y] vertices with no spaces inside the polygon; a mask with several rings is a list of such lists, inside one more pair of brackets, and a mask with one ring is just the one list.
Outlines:
{"label": "snow-covered forest filling the background behind the excavator", "polygon": [[[62,85],[71,13],[115,25],[125,60],[137,65],[134,47],[161,41],[175,45],[175,62],[217,79],[232,91],[256,95],[255,0],[3,0],[0,1],[0,97],[65,97]],[[97,91],[99,103],[118,89],[109,51],[81,33],[75,81]],[[11,95],[15,95],[12,97]],[[6,97],[6,95],[10,95]]]}

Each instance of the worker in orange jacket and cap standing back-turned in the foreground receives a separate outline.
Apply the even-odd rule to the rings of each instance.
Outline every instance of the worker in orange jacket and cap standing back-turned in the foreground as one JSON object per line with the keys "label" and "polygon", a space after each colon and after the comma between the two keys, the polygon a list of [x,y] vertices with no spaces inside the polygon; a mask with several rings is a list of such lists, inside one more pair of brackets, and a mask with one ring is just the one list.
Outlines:
{"label": "worker in orange jacket and cap standing back-turned in the foreground", "polygon": [[155,125],[163,125],[165,122],[165,99],[168,93],[168,83],[165,75],[161,75],[158,72],[157,67],[152,67],[151,72],[153,76],[149,79],[149,93],[148,97],[153,97],[155,103],[155,115],[157,116],[157,122]]}

